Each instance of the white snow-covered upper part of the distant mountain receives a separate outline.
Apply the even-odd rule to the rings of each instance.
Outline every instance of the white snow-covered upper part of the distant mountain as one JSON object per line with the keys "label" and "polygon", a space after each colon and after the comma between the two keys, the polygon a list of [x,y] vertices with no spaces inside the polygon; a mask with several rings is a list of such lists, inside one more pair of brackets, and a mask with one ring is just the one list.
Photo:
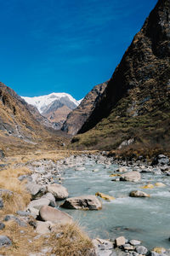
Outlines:
{"label": "white snow-covered upper part of the distant mountain", "polygon": [[[40,113],[47,113],[49,108],[61,108],[62,106],[66,106],[68,108],[74,109],[80,104],[80,101],[74,99],[68,93],[51,93],[46,96],[34,96],[34,97],[26,97],[22,96],[22,98],[29,104],[35,106]],[[62,106],[61,106],[62,105]]]}

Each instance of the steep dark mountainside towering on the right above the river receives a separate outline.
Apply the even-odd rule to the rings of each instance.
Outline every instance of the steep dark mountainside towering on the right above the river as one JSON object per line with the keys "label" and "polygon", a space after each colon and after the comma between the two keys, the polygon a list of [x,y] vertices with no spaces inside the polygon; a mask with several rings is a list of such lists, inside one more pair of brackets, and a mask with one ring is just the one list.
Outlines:
{"label": "steep dark mountainside towering on the right above the river", "polygon": [[[167,147],[170,142],[170,1],[160,0],[116,67],[73,147]],[[91,129],[91,130],[90,130]],[[89,131],[90,130],[90,131]],[[85,133],[84,133],[85,132]]]}

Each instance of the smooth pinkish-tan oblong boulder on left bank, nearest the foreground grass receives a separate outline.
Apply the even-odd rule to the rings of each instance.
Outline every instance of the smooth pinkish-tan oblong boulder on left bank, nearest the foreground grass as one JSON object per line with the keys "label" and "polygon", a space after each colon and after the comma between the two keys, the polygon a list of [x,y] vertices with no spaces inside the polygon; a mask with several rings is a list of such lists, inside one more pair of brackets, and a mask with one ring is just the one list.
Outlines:
{"label": "smooth pinkish-tan oblong boulder on left bank, nearest the foreground grass", "polygon": [[55,224],[71,224],[72,217],[53,207],[41,207],[39,212],[40,218],[44,221],[50,221]]}

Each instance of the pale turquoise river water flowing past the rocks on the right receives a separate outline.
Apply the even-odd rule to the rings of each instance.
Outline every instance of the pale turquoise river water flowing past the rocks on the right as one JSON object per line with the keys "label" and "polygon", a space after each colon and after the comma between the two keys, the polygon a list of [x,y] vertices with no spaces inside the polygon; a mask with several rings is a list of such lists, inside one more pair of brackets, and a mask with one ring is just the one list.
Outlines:
{"label": "pale turquoise river water flowing past the rocks on the right", "polygon": [[[125,236],[139,239],[148,248],[170,247],[170,177],[141,173],[139,183],[113,182],[110,174],[116,172],[116,165],[105,168],[88,160],[84,167],[84,171],[65,169],[64,186],[70,197],[95,195],[98,191],[116,197],[114,201],[101,199],[103,208],[99,211],[64,210],[85,227],[89,236],[104,239]],[[148,182],[167,186],[141,189]],[[150,198],[129,197],[129,192],[136,189],[150,194]]]}

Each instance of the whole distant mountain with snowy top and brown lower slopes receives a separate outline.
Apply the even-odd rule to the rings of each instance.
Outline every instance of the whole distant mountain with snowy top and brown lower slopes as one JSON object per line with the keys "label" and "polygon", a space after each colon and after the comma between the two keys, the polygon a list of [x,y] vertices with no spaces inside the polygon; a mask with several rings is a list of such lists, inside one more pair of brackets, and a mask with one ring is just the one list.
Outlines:
{"label": "whole distant mountain with snowy top and brown lower slopes", "polygon": [[36,107],[42,116],[52,122],[54,129],[59,130],[65,122],[67,115],[80,104],[67,93],[51,93],[46,96],[35,96],[22,98],[32,106]]}

